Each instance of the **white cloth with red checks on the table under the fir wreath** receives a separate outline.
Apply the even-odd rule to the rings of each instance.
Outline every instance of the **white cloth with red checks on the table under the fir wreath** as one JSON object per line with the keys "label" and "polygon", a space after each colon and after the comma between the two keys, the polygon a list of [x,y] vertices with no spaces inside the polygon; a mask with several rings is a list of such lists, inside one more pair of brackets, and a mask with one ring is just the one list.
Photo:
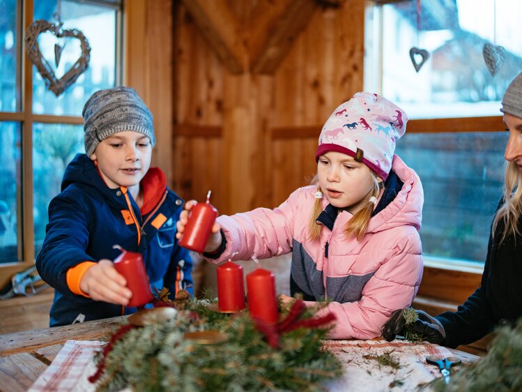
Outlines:
{"label": "white cloth with red checks on the table under the fir wreath", "polygon": [[[96,372],[94,355],[103,345],[105,342],[68,340],[29,392],[94,392],[95,384],[88,378]],[[390,391],[394,382],[393,391],[418,391],[419,384],[440,377],[438,369],[426,363],[426,356],[454,356],[445,347],[429,343],[414,345],[399,340],[325,340],[324,347],[335,354],[344,367],[344,375],[325,384],[330,392]],[[364,359],[365,355],[386,353],[400,363],[399,369]],[[130,392],[130,389],[123,392]]]}

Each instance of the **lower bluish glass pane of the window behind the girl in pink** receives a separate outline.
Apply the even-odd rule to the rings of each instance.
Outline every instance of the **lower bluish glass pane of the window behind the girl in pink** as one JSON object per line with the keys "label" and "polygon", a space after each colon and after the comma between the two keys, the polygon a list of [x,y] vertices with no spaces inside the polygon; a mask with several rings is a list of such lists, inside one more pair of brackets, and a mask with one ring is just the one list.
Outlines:
{"label": "lower bluish glass pane of the window behind the girl in pink", "polygon": [[410,133],[396,154],[424,188],[425,255],[484,262],[493,213],[502,194],[507,132]]}

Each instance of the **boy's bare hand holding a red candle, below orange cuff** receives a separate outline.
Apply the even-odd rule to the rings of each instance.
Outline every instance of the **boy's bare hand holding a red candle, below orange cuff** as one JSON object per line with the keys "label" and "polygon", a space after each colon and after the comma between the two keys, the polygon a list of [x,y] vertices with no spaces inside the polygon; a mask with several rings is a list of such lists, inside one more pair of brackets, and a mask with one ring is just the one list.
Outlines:
{"label": "boy's bare hand holding a red candle, below orange cuff", "polygon": [[125,287],[127,281],[114,268],[109,259],[101,259],[91,266],[79,282],[79,288],[95,301],[104,301],[126,306],[132,292]]}

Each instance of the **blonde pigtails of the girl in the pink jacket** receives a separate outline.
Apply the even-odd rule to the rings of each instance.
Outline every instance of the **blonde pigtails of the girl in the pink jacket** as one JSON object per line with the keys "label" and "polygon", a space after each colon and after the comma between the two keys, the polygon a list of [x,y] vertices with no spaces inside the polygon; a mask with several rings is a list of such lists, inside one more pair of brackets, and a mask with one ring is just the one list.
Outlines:
{"label": "blonde pigtails of the girl in the pink jacket", "polygon": [[[355,213],[353,218],[351,220],[348,220],[348,223],[346,223],[346,226],[344,227],[344,232],[346,233],[346,236],[353,237],[355,236],[358,240],[362,239],[362,236],[366,234],[366,229],[368,228],[369,221],[371,218],[371,213],[374,212],[374,206],[375,204],[370,201],[370,197],[378,197],[379,193],[381,193],[381,189],[383,188],[384,184],[383,181],[379,181],[379,178],[377,174],[369,170],[371,175],[371,182],[373,185],[373,188],[367,193],[366,196],[364,196],[367,199],[367,202],[362,206],[362,208]],[[314,176],[312,181],[310,181],[310,185],[317,185],[318,183],[318,176],[317,174]],[[317,192],[321,192],[321,188],[317,186],[316,189]],[[309,225],[308,225],[308,232],[309,232],[309,239],[314,241],[316,239],[319,239],[321,237],[321,227],[322,225],[317,223],[316,219],[319,216],[319,214],[323,211],[323,205],[321,204],[321,199],[316,199],[316,202],[314,203],[314,207],[312,208],[312,215],[310,216]]]}

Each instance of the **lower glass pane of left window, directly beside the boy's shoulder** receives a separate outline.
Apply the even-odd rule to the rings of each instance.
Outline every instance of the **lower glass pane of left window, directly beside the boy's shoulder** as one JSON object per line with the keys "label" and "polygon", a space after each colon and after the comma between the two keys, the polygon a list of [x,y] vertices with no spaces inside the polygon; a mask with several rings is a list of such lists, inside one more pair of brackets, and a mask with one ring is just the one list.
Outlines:
{"label": "lower glass pane of left window, directly beside the boy's shoulder", "polygon": [[33,126],[33,217],[35,257],[42,248],[47,209],[60,193],[61,179],[77,153],[84,153],[83,126],[35,123]]}

